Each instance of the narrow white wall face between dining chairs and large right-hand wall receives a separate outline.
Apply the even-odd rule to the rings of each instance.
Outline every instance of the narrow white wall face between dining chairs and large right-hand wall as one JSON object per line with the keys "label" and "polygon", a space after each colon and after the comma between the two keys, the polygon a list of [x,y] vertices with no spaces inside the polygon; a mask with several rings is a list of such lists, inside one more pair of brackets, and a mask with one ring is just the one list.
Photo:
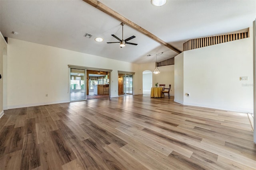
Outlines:
{"label": "narrow white wall face between dining chairs and large right-hand wall", "polygon": [[183,85],[184,85],[184,73],[183,73],[183,63],[184,63],[184,53],[178,54],[174,58],[174,101],[180,104],[183,104],[184,101],[184,92],[183,92]]}

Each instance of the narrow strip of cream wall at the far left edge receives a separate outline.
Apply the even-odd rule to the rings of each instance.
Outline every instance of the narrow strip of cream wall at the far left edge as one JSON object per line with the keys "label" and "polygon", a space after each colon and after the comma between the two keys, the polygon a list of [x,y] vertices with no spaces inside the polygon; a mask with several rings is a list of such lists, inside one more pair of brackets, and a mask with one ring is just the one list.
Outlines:
{"label": "narrow strip of cream wall at the far left edge", "polygon": [[2,35],[2,33],[0,32],[0,74],[2,76],[2,78],[0,79],[0,117],[2,117],[2,115],[4,115],[4,109],[3,109],[3,82],[4,82],[4,74],[3,74],[3,58],[6,57],[7,55],[7,43],[4,40],[4,37]]}

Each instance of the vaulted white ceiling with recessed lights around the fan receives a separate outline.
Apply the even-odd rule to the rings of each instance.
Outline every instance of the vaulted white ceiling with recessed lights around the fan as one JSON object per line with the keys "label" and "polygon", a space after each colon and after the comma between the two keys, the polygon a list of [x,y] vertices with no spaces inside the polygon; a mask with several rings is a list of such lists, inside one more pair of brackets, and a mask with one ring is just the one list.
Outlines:
{"label": "vaulted white ceiling with recessed lights around the fan", "polygon": [[[180,51],[189,39],[251,27],[256,18],[255,0],[168,0],[161,7],[150,0],[99,1]],[[155,62],[156,53],[164,52],[158,61],[178,54],[128,25],[124,39],[135,35],[129,42],[137,46],[107,44],[116,41],[111,34],[122,39],[120,23],[82,0],[0,0],[0,31],[5,37],[138,64]],[[93,36],[88,39],[85,33]],[[96,42],[95,37],[104,41]]]}

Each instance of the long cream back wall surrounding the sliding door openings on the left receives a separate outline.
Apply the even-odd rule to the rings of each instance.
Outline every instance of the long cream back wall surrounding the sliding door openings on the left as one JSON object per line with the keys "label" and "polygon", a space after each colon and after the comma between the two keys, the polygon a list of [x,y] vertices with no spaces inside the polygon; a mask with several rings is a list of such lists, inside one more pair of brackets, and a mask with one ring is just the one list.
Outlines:
{"label": "long cream back wall surrounding the sliding door openings on the left", "polygon": [[111,97],[118,96],[118,70],[136,72],[134,94],[142,88],[137,64],[9,38],[8,108],[69,102],[68,64],[112,69]]}

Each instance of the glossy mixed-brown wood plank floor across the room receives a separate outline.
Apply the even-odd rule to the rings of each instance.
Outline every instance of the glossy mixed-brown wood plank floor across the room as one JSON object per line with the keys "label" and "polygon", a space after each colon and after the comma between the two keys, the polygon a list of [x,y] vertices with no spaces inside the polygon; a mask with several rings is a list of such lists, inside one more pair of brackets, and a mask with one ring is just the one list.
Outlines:
{"label": "glossy mixed-brown wood plank floor across the room", "polygon": [[150,95],[4,112],[0,170],[256,169],[246,113]]}

